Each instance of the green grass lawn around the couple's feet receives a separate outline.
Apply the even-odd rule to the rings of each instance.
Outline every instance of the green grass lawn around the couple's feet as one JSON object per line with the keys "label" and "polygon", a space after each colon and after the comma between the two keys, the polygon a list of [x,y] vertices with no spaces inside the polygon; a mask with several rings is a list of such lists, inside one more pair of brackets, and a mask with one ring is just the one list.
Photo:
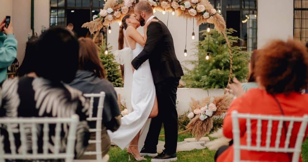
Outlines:
{"label": "green grass lawn around the couple's feet", "polygon": [[[160,132],[161,135],[164,135],[164,129]],[[184,141],[185,138],[192,138],[193,136],[189,133],[184,133],[178,136],[178,142]],[[164,141],[164,138],[159,138],[160,141]],[[210,138],[210,140],[213,140]],[[126,150],[121,150],[119,147],[112,146],[110,151],[108,152],[110,159],[109,162],[122,162],[128,161],[128,154]],[[208,148],[197,150],[194,149],[192,151],[183,151],[177,152],[177,161],[181,162],[197,162],[197,161],[206,161],[211,162],[214,161],[215,151],[211,151]],[[151,161],[151,157],[146,156],[147,161]],[[131,160],[133,157],[131,156]],[[308,162],[308,138],[302,145],[302,160],[303,162]],[[132,160],[135,161],[135,160]]]}

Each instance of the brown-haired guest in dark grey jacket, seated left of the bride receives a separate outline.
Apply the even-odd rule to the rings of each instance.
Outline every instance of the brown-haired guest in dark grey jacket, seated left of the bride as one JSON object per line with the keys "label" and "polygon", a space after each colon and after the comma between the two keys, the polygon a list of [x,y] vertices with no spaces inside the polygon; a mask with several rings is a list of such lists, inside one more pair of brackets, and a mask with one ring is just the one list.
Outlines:
{"label": "brown-haired guest in dark grey jacket, seated left of the bride", "polygon": [[[90,38],[79,38],[79,70],[70,85],[83,93],[106,93],[103,107],[102,157],[110,148],[107,130],[116,131],[120,127],[121,116],[117,103],[117,93],[113,85],[105,79],[105,70],[99,60],[98,49]],[[98,98],[93,105],[93,116],[97,114]],[[95,128],[95,123],[90,123]],[[95,133],[91,134],[95,139]],[[95,151],[95,144],[90,144],[86,151]],[[96,159],[96,156],[82,156],[81,159]]]}

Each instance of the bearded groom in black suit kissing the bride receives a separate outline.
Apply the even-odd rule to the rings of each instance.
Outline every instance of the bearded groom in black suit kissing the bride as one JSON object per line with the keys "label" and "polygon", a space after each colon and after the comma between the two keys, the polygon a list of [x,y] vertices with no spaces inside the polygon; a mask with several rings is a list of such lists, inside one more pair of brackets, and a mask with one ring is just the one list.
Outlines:
{"label": "bearded groom in black suit kissing the bride", "polygon": [[[141,26],[151,19],[157,19],[147,1],[139,2],[134,12]],[[172,35],[166,25],[161,21],[150,23],[147,36],[144,49],[132,60],[132,66],[138,70],[149,59],[158,101],[158,115],[151,120],[140,154],[155,156],[152,161],[174,161],[177,160],[176,91],[180,77],[184,74],[176,58]],[[157,155],[156,145],[162,124],[165,130],[165,149]]]}

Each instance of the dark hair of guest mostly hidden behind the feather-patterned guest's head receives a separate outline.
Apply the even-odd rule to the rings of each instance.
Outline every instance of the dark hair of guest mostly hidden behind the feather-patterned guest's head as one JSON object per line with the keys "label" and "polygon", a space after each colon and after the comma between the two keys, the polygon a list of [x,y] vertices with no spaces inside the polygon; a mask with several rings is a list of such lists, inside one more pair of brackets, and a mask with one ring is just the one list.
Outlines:
{"label": "dark hair of guest mostly hidden behind the feather-patterned guest's head", "polygon": [[36,74],[34,72],[34,68],[37,64],[35,53],[34,53],[34,44],[38,40],[38,37],[33,36],[31,37],[28,42],[26,43],[26,52],[25,57],[22,61],[22,64],[18,68],[16,75],[18,77],[22,77],[27,75],[28,77],[35,77]]}

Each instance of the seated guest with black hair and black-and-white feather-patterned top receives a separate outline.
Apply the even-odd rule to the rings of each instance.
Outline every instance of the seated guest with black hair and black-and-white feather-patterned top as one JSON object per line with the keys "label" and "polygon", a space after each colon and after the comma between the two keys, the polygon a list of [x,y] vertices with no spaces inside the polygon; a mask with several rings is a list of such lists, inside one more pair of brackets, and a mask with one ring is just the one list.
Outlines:
{"label": "seated guest with black hair and black-and-white feather-patterned top", "polygon": [[[88,145],[89,102],[82,96],[82,92],[71,88],[65,83],[71,82],[78,69],[78,40],[64,28],[54,27],[44,32],[35,46],[35,73],[37,77],[15,77],[6,80],[2,85],[0,117],[71,117],[79,115],[77,125],[75,156],[83,154]],[[17,126],[16,126],[17,127]],[[26,127],[26,126],[25,126]],[[31,125],[30,125],[31,127]],[[55,136],[55,126],[50,125],[50,150],[52,149],[52,136]],[[28,129],[28,128],[25,128]],[[29,128],[30,129],[30,128]],[[43,130],[43,127],[39,128]],[[62,142],[65,143],[67,129],[63,129]],[[7,135],[2,129],[1,134]],[[31,139],[31,134],[26,134]],[[20,147],[20,135],[15,139],[16,148]],[[30,137],[29,137],[30,136]],[[10,150],[10,144],[5,136],[4,148]],[[27,142],[29,143],[29,142]],[[42,133],[38,137],[38,151],[42,152]],[[26,146],[31,152],[31,142]],[[60,150],[65,150],[65,145]]]}

